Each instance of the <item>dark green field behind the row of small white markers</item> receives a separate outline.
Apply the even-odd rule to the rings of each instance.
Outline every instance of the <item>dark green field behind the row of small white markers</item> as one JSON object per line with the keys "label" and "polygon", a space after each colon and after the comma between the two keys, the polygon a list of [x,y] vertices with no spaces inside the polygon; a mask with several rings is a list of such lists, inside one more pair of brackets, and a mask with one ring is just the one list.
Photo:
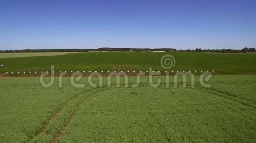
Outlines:
{"label": "dark green field behind the row of small white markers", "polygon": [[165,71],[160,59],[165,54],[172,54],[179,71],[215,71],[219,75],[253,75],[256,74],[256,54],[211,54],[196,52],[89,52],[44,57],[0,58],[5,72],[49,71],[55,64],[56,71]]}

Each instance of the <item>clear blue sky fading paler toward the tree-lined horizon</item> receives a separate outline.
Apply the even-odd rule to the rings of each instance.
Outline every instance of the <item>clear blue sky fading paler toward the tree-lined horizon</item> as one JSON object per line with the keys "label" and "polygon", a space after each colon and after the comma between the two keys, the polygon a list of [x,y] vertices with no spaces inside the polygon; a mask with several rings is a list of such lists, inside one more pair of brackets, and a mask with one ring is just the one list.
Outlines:
{"label": "clear blue sky fading paler toward the tree-lined horizon", "polygon": [[0,50],[256,47],[256,0],[0,0]]}

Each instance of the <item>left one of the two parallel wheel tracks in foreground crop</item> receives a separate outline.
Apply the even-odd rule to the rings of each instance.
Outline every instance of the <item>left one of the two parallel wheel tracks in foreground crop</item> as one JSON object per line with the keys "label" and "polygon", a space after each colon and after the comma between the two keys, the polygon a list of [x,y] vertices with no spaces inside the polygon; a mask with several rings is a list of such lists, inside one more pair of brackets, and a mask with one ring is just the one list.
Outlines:
{"label": "left one of the two parallel wheel tracks in foreground crop", "polygon": [[72,99],[66,101],[64,103],[64,105],[53,115],[51,115],[51,117],[47,120],[46,124],[36,133],[36,136],[34,136],[34,138],[30,139],[28,142],[33,142],[36,139],[39,139],[48,129],[49,125],[60,116],[60,114],[62,112],[65,111],[65,109],[68,107],[69,104],[71,104],[72,102],[74,102],[74,100],[76,100],[78,97],[83,96],[86,93],[92,92],[94,89],[91,89],[85,93],[81,93],[81,94],[77,94],[75,95]]}

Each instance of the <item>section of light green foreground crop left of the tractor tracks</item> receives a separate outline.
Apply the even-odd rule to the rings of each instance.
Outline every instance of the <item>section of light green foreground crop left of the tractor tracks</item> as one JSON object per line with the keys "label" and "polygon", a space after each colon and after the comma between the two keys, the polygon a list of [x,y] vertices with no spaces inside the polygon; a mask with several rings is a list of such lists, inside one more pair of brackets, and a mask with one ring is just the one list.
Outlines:
{"label": "section of light green foreground crop left of the tractor tracks", "polygon": [[[64,89],[65,88],[65,89]],[[91,88],[64,86],[46,89],[38,79],[0,79],[0,140],[22,143],[32,139],[49,118],[69,104],[68,101]]]}

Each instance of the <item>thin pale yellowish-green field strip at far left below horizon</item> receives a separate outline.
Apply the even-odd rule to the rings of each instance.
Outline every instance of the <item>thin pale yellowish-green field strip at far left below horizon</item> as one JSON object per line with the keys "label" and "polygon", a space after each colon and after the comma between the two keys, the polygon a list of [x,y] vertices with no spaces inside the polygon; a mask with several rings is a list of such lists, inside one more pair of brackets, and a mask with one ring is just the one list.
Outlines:
{"label": "thin pale yellowish-green field strip at far left below horizon", "polygon": [[57,55],[64,55],[64,54],[70,54],[70,53],[73,53],[73,52],[0,53],[0,58],[7,58],[7,57],[57,56]]}

